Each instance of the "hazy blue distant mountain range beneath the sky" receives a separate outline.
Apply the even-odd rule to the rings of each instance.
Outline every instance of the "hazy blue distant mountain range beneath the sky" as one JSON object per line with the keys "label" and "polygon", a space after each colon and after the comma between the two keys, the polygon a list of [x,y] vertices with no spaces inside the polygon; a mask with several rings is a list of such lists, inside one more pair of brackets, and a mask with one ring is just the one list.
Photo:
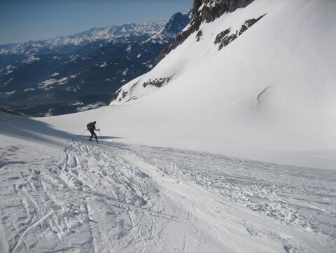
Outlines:
{"label": "hazy blue distant mountain range beneath the sky", "polygon": [[31,116],[83,111],[109,104],[128,81],[150,71],[190,22],[92,28],[71,36],[0,46],[0,105]]}

